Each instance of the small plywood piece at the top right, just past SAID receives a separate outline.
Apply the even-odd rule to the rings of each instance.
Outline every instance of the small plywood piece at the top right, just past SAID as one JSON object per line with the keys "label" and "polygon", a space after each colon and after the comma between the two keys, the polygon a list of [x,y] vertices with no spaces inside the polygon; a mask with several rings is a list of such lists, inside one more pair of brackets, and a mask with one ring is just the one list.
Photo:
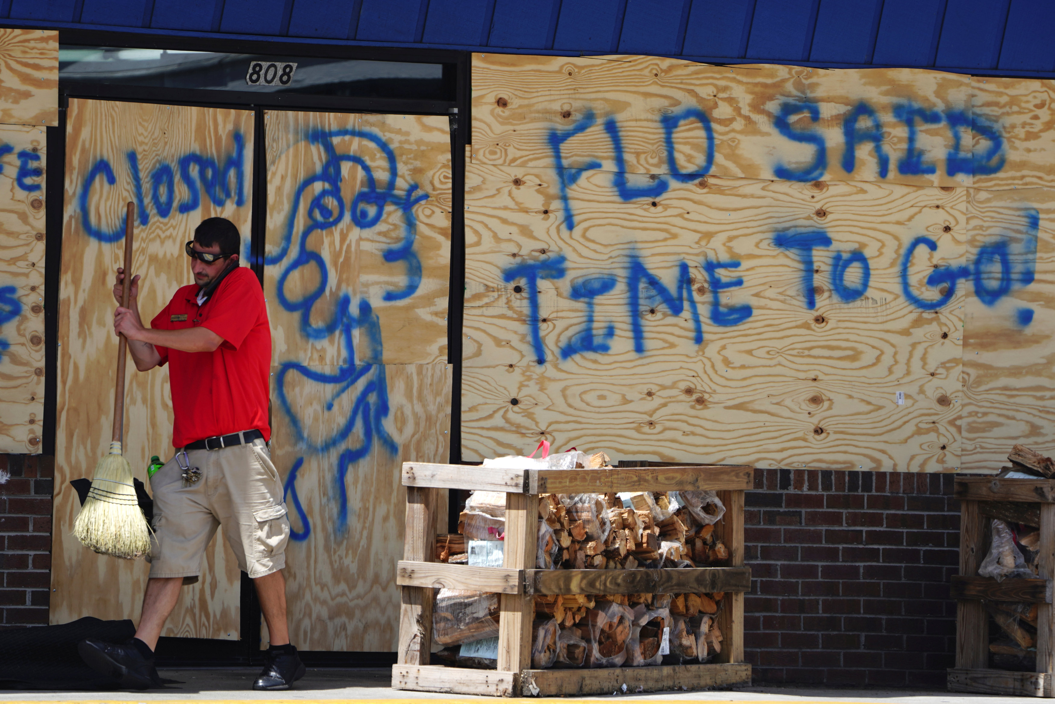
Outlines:
{"label": "small plywood piece at the top right, just past SAID", "polygon": [[[987,190],[1051,186],[1055,177],[1055,87],[1035,78],[971,78],[971,109],[983,125],[999,125],[994,173],[976,173],[974,185]],[[977,135],[979,157],[994,149]],[[984,144],[983,144],[984,142]],[[983,151],[984,150],[984,151]]]}

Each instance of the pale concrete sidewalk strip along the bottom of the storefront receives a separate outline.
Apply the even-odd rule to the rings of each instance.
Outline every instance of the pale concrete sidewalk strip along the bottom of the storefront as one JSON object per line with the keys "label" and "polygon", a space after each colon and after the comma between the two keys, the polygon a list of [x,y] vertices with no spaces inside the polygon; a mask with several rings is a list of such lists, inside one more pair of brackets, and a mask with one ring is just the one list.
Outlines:
{"label": "pale concrete sidewalk strip along the bottom of the storefront", "polygon": [[[160,670],[165,679],[178,680],[183,684],[169,685],[165,689],[135,691],[41,691],[0,690],[0,702],[248,702],[260,701],[277,704],[280,702],[305,702],[334,700],[375,701],[395,704],[399,701],[447,701],[469,700],[498,701],[490,697],[465,697],[430,692],[398,691],[391,689],[390,668],[383,669],[309,669],[307,676],[290,691],[258,692],[249,687],[258,673],[258,668],[245,669],[195,669]],[[987,695],[960,695],[944,691],[882,690],[862,689],[811,689],[797,687],[737,687],[733,691],[670,691],[648,695],[619,695],[617,697],[590,697],[581,700],[573,698],[560,700],[529,700],[534,702],[600,701],[613,699],[654,700],[673,704],[674,702],[797,702],[808,704],[871,703],[871,704],[1021,704],[1020,697],[993,697]],[[501,700],[509,701],[509,700]]]}

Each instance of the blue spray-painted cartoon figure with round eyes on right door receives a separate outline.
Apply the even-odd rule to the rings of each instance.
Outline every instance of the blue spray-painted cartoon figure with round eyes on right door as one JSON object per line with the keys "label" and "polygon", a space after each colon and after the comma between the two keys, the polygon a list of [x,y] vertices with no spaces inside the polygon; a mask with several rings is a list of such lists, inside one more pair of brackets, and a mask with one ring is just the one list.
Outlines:
{"label": "blue spray-painted cartoon figure with round eyes on right door", "polygon": [[[382,155],[383,163],[380,167],[377,164],[371,165],[360,154],[342,153],[335,141],[345,137],[372,145]],[[365,299],[353,305],[348,291],[341,291],[335,305],[329,310],[319,309],[329,282],[330,269],[322,255],[309,248],[310,235],[315,232],[332,231],[346,222],[362,229],[375,227],[381,222],[386,208],[395,207],[402,217],[402,241],[387,248],[382,255],[387,263],[402,264],[402,283],[398,288],[385,291],[382,299],[384,301],[406,299],[418,290],[422,275],[421,260],[415,249],[417,220],[413,208],[425,201],[428,195],[421,192],[414,184],[405,193],[396,191],[398,178],[396,154],[388,144],[373,132],[313,131],[306,139],[309,145],[323,151],[325,161],[316,173],[304,178],[298,185],[279,250],[266,256],[264,262],[269,266],[282,266],[276,282],[276,298],[285,310],[299,313],[301,335],[307,340],[335,338],[344,349],[345,361],[338,365],[332,374],[320,372],[295,361],[283,362],[275,375],[275,394],[279,406],[286,416],[298,443],[308,453],[318,455],[350,443],[350,446],[341,451],[333,476],[338,505],[333,526],[334,531],[342,534],[347,530],[349,521],[346,488],[348,472],[377,446],[391,455],[396,455],[399,448],[385,427],[385,419],[389,414],[388,383],[382,358],[383,342],[378,315]],[[350,203],[342,192],[345,182],[342,168],[348,164],[358,166],[365,180],[365,186],[350,198]],[[203,173],[202,166],[197,166],[198,172]],[[383,186],[375,175],[375,169],[378,168],[387,173]],[[162,173],[153,179],[155,184],[164,185],[167,192],[171,193],[171,173],[168,175]],[[157,192],[155,186],[155,194]],[[155,197],[161,196],[155,195]],[[168,197],[168,203],[171,204],[171,196]],[[308,203],[303,206],[305,199]],[[298,230],[302,215],[307,224]],[[314,289],[291,297],[287,291],[290,277],[303,275],[306,273],[305,269],[313,269],[319,283]],[[312,322],[320,320],[320,313],[323,313],[322,322]],[[362,360],[356,359],[352,341],[354,330],[360,331],[364,342],[362,346],[365,347],[365,354]],[[286,394],[286,380],[290,375],[303,377],[327,389],[326,413],[333,412],[335,403],[344,395],[351,393],[353,395],[350,400],[351,411],[335,422],[315,423],[316,426],[327,429],[325,434],[309,432],[302,415],[305,410],[295,407]],[[292,531],[290,536],[294,540],[305,540],[311,534],[310,518],[296,494],[296,478],[303,469],[304,459],[302,456],[294,461],[285,482],[285,495],[292,502],[302,527],[301,530]]]}

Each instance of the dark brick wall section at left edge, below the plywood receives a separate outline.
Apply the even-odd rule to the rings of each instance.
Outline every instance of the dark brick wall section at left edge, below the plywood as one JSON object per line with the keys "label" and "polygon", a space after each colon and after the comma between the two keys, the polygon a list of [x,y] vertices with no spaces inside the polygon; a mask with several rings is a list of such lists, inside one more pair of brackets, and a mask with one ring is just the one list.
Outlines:
{"label": "dark brick wall section at left edge, below the plywood", "polygon": [[55,458],[0,455],[0,628],[47,623]]}

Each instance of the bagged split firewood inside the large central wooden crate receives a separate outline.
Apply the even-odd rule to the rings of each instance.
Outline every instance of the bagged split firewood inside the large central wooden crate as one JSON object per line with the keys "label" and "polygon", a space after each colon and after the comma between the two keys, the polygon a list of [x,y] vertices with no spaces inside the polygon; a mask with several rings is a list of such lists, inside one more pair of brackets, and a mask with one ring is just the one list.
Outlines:
{"label": "bagged split firewood inside the large central wooden crate", "polygon": [[[607,463],[602,453],[590,458],[592,468]],[[690,494],[694,495],[692,506],[684,506]],[[435,559],[466,564],[469,538],[479,539],[484,529],[488,536],[501,533],[502,496],[474,494],[471,506],[459,516],[459,532],[437,537]],[[683,492],[678,503],[666,492],[621,496],[541,495],[536,567],[633,570],[728,564],[729,550],[715,536],[723,509],[713,494]],[[533,666],[705,662],[721,651],[723,636],[715,614],[724,596],[721,592],[536,594]],[[441,608],[446,607],[437,602],[438,623],[448,621]]]}

